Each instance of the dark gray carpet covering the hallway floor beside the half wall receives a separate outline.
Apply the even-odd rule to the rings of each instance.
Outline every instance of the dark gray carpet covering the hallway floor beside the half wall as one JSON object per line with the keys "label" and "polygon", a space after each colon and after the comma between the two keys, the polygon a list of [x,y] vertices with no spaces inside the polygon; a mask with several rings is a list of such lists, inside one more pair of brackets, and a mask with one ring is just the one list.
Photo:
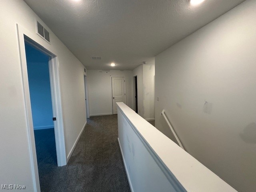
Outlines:
{"label": "dark gray carpet covering the hallway floor beside the half wall", "polygon": [[130,192],[118,144],[117,115],[87,119],[66,166],[51,158],[39,168],[42,192]]}

